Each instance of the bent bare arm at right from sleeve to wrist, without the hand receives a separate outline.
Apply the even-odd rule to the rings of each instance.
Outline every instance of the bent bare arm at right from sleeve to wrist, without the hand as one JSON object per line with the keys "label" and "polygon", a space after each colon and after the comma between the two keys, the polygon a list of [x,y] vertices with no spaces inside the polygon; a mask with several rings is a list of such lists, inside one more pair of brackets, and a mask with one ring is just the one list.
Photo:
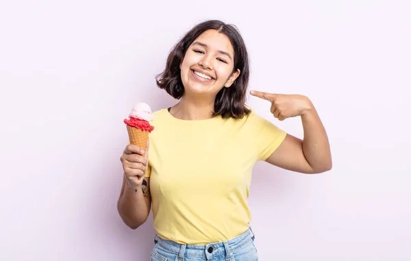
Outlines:
{"label": "bent bare arm at right from sleeve to wrist, without the hand", "polygon": [[332,157],[327,134],[314,105],[301,114],[304,139],[287,134],[282,145],[266,162],[300,173],[323,173],[332,169]]}

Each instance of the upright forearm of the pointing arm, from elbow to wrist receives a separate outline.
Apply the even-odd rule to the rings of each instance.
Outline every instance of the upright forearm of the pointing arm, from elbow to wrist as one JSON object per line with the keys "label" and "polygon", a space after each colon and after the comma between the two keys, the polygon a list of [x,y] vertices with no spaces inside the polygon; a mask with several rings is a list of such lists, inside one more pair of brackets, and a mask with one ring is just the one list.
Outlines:
{"label": "upright forearm of the pointing arm, from elbow to wrist", "polygon": [[329,171],[332,168],[332,157],[327,133],[314,105],[301,115],[304,139],[303,153],[314,173]]}

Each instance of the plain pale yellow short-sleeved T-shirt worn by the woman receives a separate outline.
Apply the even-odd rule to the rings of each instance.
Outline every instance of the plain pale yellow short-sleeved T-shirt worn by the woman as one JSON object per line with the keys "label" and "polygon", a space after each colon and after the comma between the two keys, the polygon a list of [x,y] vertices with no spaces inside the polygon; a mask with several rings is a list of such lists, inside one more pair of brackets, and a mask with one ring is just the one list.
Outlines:
{"label": "plain pale yellow short-sleeved T-shirt worn by the woman", "polygon": [[158,236],[205,245],[245,232],[251,170],[286,132],[254,112],[199,121],[177,119],[167,109],[153,116],[146,176]]}

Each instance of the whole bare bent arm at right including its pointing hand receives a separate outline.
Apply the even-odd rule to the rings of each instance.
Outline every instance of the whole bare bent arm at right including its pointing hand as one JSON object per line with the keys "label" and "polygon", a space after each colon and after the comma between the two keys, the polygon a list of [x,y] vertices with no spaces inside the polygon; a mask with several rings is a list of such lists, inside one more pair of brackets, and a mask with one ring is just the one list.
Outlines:
{"label": "whole bare bent arm at right including its pointing hand", "polygon": [[323,173],[332,168],[331,151],[323,123],[314,105],[303,95],[279,95],[251,91],[251,95],[271,102],[271,113],[279,121],[301,116],[304,140],[287,134],[266,162],[300,173]]}

